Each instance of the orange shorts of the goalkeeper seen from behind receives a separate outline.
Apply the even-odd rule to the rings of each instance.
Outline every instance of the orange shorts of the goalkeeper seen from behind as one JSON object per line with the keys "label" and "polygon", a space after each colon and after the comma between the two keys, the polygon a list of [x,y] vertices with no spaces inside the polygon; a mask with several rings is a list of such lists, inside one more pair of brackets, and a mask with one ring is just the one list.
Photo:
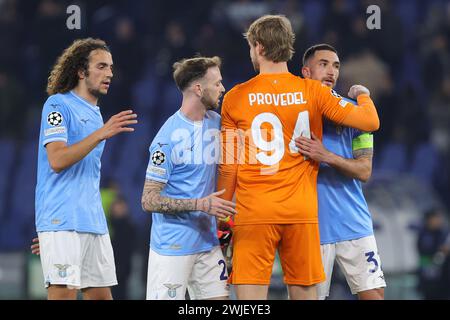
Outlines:
{"label": "orange shorts of the goalkeeper seen from behind", "polygon": [[317,223],[238,225],[233,242],[232,284],[270,284],[277,249],[286,284],[325,280]]}

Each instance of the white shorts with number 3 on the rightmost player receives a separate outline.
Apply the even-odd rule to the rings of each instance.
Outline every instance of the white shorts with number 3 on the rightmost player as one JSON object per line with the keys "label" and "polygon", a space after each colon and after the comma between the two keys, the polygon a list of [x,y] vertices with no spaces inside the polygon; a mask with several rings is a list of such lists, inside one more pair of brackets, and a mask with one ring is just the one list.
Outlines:
{"label": "white shorts with number 3 on the rightmost player", "polygon": [[317,286],[317,295],[323,300],[330,293],[334,261],[339,265],[352,294],[386,287],[375,237],[342,241],[320,246],[326,280]]}

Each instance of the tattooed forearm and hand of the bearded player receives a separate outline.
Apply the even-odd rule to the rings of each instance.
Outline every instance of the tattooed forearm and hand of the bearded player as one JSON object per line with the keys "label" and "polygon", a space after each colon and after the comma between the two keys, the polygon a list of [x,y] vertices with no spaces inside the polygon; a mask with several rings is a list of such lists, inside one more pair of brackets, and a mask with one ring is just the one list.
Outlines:
{"label": "tattooed forearm and hand of the bearded player", "polygon": [[178,214],[186,211],[203,211],[218,218],[236,213],[235,204],[219,198],[224,190],[199,199],[176,199],[161,195],[165,183],[146,179],[142,193],[142,209],[146,212]]}

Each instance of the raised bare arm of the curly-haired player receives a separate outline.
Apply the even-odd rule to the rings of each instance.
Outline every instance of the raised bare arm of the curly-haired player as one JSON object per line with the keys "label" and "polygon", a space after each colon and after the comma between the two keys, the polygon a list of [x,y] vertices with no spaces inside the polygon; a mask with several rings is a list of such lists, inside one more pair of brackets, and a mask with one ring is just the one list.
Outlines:
{"label": "raised bare arm of the curly-haired player", "polygon": [[137,123],[137,115],[131,110],[122,111],[112,116],[103,127],[93,132],[83,140],[68,146],[66,142],[54,141],[46,144],[50,167],[60,173],[86,157],[101,141],[111,138],[120,132],[132,132],[127,127]]}

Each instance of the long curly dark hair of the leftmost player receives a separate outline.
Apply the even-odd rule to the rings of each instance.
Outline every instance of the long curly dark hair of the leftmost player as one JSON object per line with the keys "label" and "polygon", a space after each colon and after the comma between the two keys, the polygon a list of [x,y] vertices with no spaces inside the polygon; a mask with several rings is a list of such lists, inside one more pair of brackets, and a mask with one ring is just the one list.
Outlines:
{"label": "long curly dark hair of the leftmost player", "polygon": [[58,57],[48,77],[47,93],[66,93],[78,85],[78,71],[88,71],[89,54],[94,50],[110,52],[105,41],[86,38],[75,40],[70,47]]}

